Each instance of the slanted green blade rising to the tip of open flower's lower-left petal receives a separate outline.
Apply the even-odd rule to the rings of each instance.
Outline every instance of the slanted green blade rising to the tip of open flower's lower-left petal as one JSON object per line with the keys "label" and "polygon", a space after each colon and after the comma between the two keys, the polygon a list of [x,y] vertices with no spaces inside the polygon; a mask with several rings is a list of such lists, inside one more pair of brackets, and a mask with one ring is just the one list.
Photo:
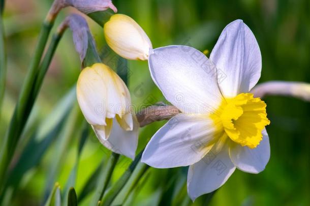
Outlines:
{"label": "slanted green blade rising to the tip of open flower's lower-left petal", "polygon": [[101,206],[110,205],[120,190],[126,185],[133,171],[135,170],[137,164],[140,162],[142,157],[142,152],[136,156],[135,160],[130,164],[128,169],[121,175],[118,181],[112,186],[112,188],[104,195],[103,199],[100,201]]}

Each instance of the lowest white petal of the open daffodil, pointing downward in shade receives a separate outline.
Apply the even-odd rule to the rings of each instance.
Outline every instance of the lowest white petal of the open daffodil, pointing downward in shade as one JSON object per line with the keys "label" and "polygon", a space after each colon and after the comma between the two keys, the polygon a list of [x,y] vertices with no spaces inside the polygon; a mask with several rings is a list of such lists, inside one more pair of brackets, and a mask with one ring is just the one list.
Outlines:
{"label": "lowest white petal of the open daffodil, pointing downward in shade", "polygon": [[221,187],[236,169],[229,158],[227,145],[218,154],[213,151],[189,168],[188,193],[193,201]]}

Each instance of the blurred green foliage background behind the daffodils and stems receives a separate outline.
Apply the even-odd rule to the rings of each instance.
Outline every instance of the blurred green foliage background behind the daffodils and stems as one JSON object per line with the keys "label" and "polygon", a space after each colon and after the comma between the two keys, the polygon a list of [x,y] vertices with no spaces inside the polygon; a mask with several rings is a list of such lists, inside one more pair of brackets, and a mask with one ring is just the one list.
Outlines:
{"label": "blurred green foliage background behind the daffodils and stems", "polygon": [[[10,0],[6,3],[4,24],[8,74],[1,110],[2,137],[33,55],[41,23],[51,4],[52,1],[46,0]],[[118,13],[131,16],[141,25],[154,48],[183,44],[201,51],[211,51],[223,28],[235,19],[242,19],[253,31],[261,49],[263,68],[260,82],[310,82],[308,0],[114,0],[113,4],[118,8]],[[77,11],[72,8],[63,10],[55,27],[71,12]],[[89,18],[87,21],[98,50],[105,55],[106,44],[102,28]],[[104,61],[111,63],[107,58]],[[12,187],[15,189],[8,191],[11,193],[12,205],[42,204],[46,191],[55,182],[59,182],[61,189],[65,188],[76,160],[79,164],[75,189],[79,196],[91,173],[102,160],[107,161],[110,152],[104,149],[92,131],[77,159],[83,116],[77,107],[74,91],[71,97],[67,95],[67,100],[59,105],[63,96],[74,87],[80,68],[72,34],[68,31],[59,43],[11,165],[12,168],[20,166],[10,176],[11,184],[15,185]],[[135,105],[165,101],[150,78],[147,62],[129,61],[129,71],[129,87]],[[236,170],[215,193],[211,205],[310,205],[310,103],[287,97],[267,97],[264,100],[271,121],[267,127],[271,157],[266,169],[260,174]],[[63,116],[67,118],[64,119]],[[64,119],[64,124],[56,127],[59,131],[50,134],[49,142],[42,145],[30,144],[28,152],[21,153],[29,140],[40,141],[46,138],[46,134],[57,126],[60,119]],[[140,129],[139,150],[164,123],[158,122]],[[43,145],[48,145],[47,149]],[[42,153],[34,152],[38,148],[43,150]],[[41,159],[34,167],[26,168],[25,165],[36,162],[36,158]],[[113,182],[129,163],[126,158],[120,159],[113,174]],[[144,182],[140,181],[144,184],[139,185],[132,195],[135,198],[130,197],[127,204],[165,205],[169,204],[167,202],[170,197],[185,198],[186,171],[186,168],[151,168],[145,175]],[[178,188],[181,188],[179,193]],[[88,205],[91,196],[91,193],[87,195],[82,205]],[[204,201],[204,197],[198,198],[194,205],[203,205]]]}

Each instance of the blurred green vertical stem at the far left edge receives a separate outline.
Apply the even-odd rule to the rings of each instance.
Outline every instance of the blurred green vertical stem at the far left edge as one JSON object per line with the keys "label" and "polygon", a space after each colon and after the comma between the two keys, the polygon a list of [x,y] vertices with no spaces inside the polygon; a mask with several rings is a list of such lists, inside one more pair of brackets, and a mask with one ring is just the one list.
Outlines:
{"label": "blurred green vertical stem at the far left edge", "polygon": [[7,58],[5,48],[5,33],[3,26],[3,17],[0,13],[0,116],[1,116],[3,97],[5,93],[6,76],[7,76]]}

